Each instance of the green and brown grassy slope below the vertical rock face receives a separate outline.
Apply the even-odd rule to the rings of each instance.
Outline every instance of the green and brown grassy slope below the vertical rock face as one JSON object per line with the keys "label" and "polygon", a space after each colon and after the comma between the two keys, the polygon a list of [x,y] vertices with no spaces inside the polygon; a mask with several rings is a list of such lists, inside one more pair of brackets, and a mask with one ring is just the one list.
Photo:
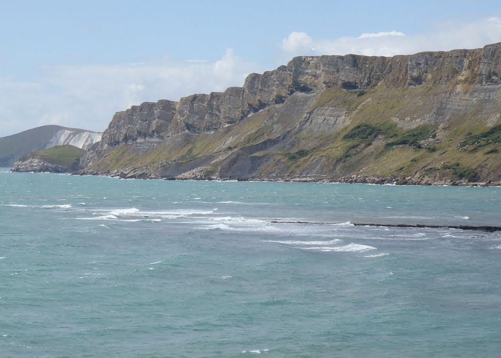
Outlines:
{"label": "green and brown grassy slope below the vertical rock face", "polygon": [[[499,108],[473,102],[458,107],[451,93],[451,88],[443,85],[376,87],[363,92],[329,89],[319,93],[304,113],[281,113],[277,106],[271,106],[220,131],[179,137],[177,141],[172,138],[153,150],[139,152],[124,145],[95,163],[93,169],[168,168],[172,162],[188,165],[210,156],[207,176],[227,177],[232,167],[252,164],[258,169],[242,177],[313,175],[319,180],[335,180],[365,174],[430,181],[501,180],[501,126],[495,125],[501,121],[490,127],[485,121]],[[315,109],[329,107],[346,110],[347,124],[323,132],[300,125]],[[451,108],[447,120],[407,126],[398,123],[406,118],[427,118],[441,107],[445,112]]]}

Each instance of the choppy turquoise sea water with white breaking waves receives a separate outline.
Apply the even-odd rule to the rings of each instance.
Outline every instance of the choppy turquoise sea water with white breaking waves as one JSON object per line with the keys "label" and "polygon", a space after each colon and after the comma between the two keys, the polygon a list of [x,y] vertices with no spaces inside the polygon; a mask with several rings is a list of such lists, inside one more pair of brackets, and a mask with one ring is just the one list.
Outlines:
{"label": "choppy turquoise sea water with white breaking waves", "polygon": [[501,188],[7,170],[2,357],[501,351],[501,233],[349,224],[500,225]]}

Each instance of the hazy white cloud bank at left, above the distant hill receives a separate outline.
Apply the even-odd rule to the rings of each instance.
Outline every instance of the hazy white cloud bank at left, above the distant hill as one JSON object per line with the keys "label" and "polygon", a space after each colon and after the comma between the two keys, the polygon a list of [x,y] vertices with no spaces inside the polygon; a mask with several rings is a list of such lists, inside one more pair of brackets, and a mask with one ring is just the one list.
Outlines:
{"label": "hazy white cloud bank at left, above the distant hill", "polygon": [[0,137],[44,124],[101,131],[131,105],[224,91],[262,70],[231,49],[212,61],[43,67],[36,82],[0,79]]}

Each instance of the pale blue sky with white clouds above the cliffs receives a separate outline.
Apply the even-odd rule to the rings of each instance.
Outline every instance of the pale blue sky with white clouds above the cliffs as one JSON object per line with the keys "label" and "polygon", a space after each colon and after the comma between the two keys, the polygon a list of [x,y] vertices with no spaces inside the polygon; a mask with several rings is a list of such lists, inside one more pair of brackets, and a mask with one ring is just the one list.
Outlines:
{"label": "pale blue sky with white clouds above the cliffs", "polygon": [[131,105],[241,86],[294,56],[501,42],[498,0],[0,0],[0,14],[0,137],[103,131]]}

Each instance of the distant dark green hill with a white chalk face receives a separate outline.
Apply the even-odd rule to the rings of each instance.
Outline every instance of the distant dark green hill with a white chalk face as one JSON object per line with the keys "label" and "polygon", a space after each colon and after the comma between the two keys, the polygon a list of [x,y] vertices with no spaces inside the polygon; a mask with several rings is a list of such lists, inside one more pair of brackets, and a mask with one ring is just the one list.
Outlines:
{"label": "distant dark green hill with a white chalk face", "polygon": [[0,167],[12,166],[23,154],[56,145],[73,145],[87,150],[101,140],[101,134],[85,129],[44,125],[24,132],[0,137]]}

